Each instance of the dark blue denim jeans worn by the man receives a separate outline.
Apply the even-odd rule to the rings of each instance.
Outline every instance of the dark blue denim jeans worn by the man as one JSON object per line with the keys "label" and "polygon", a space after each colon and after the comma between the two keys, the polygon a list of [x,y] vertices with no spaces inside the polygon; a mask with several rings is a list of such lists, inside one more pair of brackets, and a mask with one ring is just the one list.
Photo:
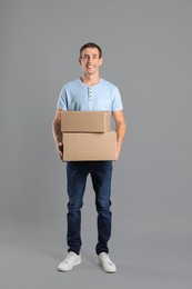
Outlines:
{"label": "dark blue denim jeans worn by the man", "polygon": [[111,177],[112,161],[71,161],[67,163],[68,177],[68,251],[80,253],[81,249],[81,208],[87,177],[90,173],[95,192],[98,212],[98,243],[95,251],[109,252],[111,236]]}

